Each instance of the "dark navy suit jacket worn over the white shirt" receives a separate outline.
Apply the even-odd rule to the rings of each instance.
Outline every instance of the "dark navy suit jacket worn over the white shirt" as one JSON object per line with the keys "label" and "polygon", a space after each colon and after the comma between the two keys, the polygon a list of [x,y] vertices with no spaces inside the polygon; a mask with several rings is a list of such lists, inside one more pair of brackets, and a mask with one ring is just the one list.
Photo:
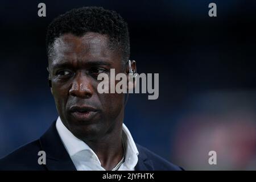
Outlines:
{"label": "dark navy suit jacket worn over the white shirt", "polygon": [[[15,150],[5,158],[0,159],[0,170],[76,170],[59,134],[56,122],[44,133],[40,139],[28,143]],[[139,155],[135,170],[181,170],[182,168],[171,164],[167,160],[136,144]],[[38,152],[46,152],[46,165],[38,164]]]}

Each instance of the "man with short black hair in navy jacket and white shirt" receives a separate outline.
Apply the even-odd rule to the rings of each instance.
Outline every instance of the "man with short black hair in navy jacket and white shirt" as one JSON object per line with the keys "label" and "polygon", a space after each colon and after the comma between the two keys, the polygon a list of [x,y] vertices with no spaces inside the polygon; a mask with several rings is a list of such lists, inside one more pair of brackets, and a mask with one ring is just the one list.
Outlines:
{"label": "man with short black hair in navy jacket and white shirt", "polygon": [[[0,169],[181,169],[134,143],[123,124],[124,94],[97,91],[100,73],[136,70],[135,61],[128,64],[129,33],[119,14],[101,7],[68,11],[49,25],[46,46],[59,118],[40,139],[1,159]],[[46,163],[40,163],[39,151]]]}

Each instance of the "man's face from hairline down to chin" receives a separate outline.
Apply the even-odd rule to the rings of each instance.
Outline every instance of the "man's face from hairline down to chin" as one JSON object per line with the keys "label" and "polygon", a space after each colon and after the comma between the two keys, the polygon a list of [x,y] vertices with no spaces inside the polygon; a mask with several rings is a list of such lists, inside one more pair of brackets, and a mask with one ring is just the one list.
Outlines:
{"label": "man's face from hairline down to chin", "polygon": [[[108,47],[108,37],[94,32],[77,37],[64,34],[55,40],[49,60],[52,94],[64,125],[77,137],[103,137],[123,119],[123,94],[100,94],[100,73],[125,72],[122,56]],[[110,88],[110,87],[109,87]]]}

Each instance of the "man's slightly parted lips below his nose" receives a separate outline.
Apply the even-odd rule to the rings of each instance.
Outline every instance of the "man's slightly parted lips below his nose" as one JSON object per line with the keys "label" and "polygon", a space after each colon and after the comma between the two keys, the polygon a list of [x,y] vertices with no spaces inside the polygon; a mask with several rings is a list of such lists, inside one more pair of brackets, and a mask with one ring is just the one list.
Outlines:
{"label": "man's slightly parted lips below his nose", "polygon": [[69,111],[76,120],[90,121],[97,114],[98,110],[89,106],[72,106]]}

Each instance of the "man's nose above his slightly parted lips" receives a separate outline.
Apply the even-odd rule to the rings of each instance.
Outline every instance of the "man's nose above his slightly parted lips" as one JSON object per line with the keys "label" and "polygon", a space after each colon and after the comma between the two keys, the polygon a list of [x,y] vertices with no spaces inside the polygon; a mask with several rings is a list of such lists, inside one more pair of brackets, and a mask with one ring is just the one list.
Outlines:
{"label": "man's nose above his slightly parted lips", "polygon": [[69,94],[74,97],[90,98],[93,94],[92,84],[87,76],[77,75],[72,82]]}

